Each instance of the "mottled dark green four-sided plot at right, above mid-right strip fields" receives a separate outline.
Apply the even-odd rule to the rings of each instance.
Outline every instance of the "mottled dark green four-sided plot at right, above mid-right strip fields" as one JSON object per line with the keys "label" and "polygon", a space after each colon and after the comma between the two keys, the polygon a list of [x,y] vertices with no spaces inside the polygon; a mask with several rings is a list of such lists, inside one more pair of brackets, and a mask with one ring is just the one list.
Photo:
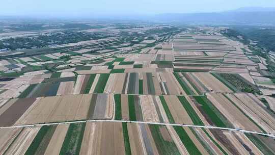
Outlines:
{"label": "mottled dark green four-sided plot at right, above mid-right strip fields", "polygon": [[238,74],[229,74],[229,73],[212,73],[219,81],[224,83],[234,92],[241,91],[253,94],[259,94],[260,91],[258,88],[251,84],[249,81],[246,81]]}

